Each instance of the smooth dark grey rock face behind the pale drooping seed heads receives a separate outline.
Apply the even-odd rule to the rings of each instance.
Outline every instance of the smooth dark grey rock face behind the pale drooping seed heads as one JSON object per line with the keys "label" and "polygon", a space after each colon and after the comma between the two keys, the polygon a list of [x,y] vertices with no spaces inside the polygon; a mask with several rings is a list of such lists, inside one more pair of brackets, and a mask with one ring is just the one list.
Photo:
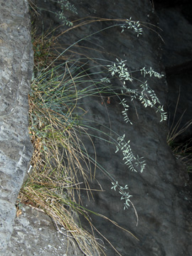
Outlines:
{"label": "smooth dark grey rock face behind the pale drooping seed heads", "polygon": [[[143,67],[154,68],[157,72],[164,73],[164,65],[161,63],[161,39],[158,33],[150,28],[149,23],[156,23],[158,20],[151,8],[150,1],[71,1],[78,9],[78,16],[72,16],[71,20],[84,18],[85,16],[97,16],[102,18],[129,18],[139,20],[147,24],[142,36],[137,36],[132,31],[121,33],[121,28],[111,28],[102,33],[95,34],[111,23],[91,23],[83,28],[65,33],[60,40],[65,48],[78,41],[78,56],[89,55],[97,59],[115,61],[115,58],[127,60],[130,70],[140,70]],[[42,4],[42,2],[41,2]],[[46,8],[48,3],[46,3]],[[58,6],[51,5],[50,10],[58,11]],[[70,16],[69,16],[70,18]],[[48,26],[50,20],[60,24],[59,18],[54,14],[46,14],[44,24]],[[79,41],[80,38],[94,33],[86,41]],[[92,46],[97,52],[90,50]],[[84,49],[83,47],[87,47]],[[88,51],[87,51],[88,49]],[[73,53],[74,48],[71,48]],[[75,48],[77,51],[77,47]],[[69,53],[69,52],[67,52]],[[110,53],[112,53],[110,55]],[[70,54],[70,53],[69,53]],[[91,70],[92,64],[87,63],[87,70]],[[94,70],[94,69],[92,69]],[[100,69],[97,70],[99,72]],[[142,78],[139,78],[142,79]],[[161,103],[166,102],[168,91],[166,79],[146,78],[149,86],[156,92]],[[118,84],[121,86],[121,84]],[[115,85],[114,85],[115,86]],[[108,95],[111,96],[110,94]],[[129,102],[129,118],[133,125],[124,123],[122,117],[123,108],[119,105],[119,99],[111,97],[110,104],[102,105],[102,100],[95,97],[82,99],[82,108],[87,111],[90,124],[94,124],[97,130],[93,133],[93,142],[97,151],[97,162],[114,178],[121,186],[126,184],[132,194],[132,202],[139,216],[139,224],[134,215],[134,209],[123,209],[121,195],[112,191],[110,179],[101,171],[97,170],[95,181],[90,181],[95,201],[88,200],[86,194],[82,193],[82,203],[90,210],[107,216],[122,228],[129,230],[137,239],[129,233],[112,225],[105,219],[92,214],[92,223],[97,230],[109,240],[121,255],[134,256],[179,256],[191,255],[191,220],[189,213],[190,195],[186,195],[184,186],[187,183],[185,167],[178,161],[166,144],[168,127],[166,122],[160,123],[159,115],[150,108],[144,108],[135,100]],[[126,141],[131,140],[130,145],[135,155],[144,156],[146,169],[142,174],[129,171],[122,161],[120,152],[115,154],[115,146],[98,139],[102,132],[109,132],[105,127],[111,127],[112,134],[125,134]],[[82,137],[87,146],[90,156],[94,157],[94,149],[89,140]],[[105,137],[106,139],[106,137]],[[117,138],[116,138],[117,139]],[[102,187],[104,192],[99,192]],[[87,223],[82,220],[85,228]],[[100,236],[99,236],[100,237]],[[117,255],[112,247],[103,240],[106,247],[106,255]]]}

